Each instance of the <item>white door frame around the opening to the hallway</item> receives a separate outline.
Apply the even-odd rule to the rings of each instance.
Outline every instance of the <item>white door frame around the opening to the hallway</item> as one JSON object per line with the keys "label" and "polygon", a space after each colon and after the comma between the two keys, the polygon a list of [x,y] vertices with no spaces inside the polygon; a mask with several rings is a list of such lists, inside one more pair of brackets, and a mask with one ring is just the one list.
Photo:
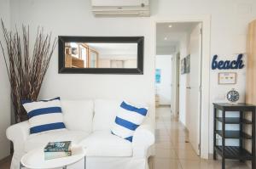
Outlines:
{"label": "white door frame around the opening to the hallway", "polygon": [[[209,158],[209,114],[210,114],[210,44],[211,16],[210,15],[179,15],[170,17],[152,17],[154,35],[153,47],[156,54],[156,24],[172,22],[201,22],[202,23],[202,59],[201,59],[201,158]],[[155,62],[155,59],[154,59]]]}

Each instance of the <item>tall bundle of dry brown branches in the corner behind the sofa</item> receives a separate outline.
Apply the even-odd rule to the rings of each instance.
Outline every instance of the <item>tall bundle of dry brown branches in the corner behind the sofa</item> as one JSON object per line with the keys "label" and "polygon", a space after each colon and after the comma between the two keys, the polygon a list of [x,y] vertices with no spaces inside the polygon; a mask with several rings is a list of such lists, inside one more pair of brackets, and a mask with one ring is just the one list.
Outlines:
{"label": "tall bundle of dry brown branches in the corner behind the sofa", "polygon": [[1,23],[3,42],[0,41],[0,46],[9,77],[15,121],[26,121],[26,110],[22,107],[21,100],[38,99],[57,41],[55,38],[52,42],[51,34],[44,34],[44,29],[38,28],[36,40],[30,50],[28,26],[22,25],[20,36],[17,30],[8,31],[3,20]]}

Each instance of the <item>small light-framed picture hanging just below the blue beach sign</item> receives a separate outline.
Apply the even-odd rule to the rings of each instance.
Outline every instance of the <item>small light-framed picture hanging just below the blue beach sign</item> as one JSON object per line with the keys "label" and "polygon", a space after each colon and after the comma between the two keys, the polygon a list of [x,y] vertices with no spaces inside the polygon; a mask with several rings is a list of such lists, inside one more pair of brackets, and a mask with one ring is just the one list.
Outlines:
{"label": "small light-framed picture hanging just below the blue beach sign", "polygon": [[218,73],[218,84],[236,84],[237,73],[236,72],[220,72]]}

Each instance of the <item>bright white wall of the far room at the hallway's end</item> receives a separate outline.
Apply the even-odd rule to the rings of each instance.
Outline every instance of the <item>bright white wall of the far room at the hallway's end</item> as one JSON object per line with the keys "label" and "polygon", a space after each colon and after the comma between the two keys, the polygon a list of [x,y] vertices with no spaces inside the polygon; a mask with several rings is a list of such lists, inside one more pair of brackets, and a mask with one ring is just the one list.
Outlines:
{"label": "bright white wall of the far room at the hallway's end", "polygon": [[156,55],[155,69],[160,69],[160,83],[156,83],[156,93],[160,105],[170,105],[172,99],[172,55]]}

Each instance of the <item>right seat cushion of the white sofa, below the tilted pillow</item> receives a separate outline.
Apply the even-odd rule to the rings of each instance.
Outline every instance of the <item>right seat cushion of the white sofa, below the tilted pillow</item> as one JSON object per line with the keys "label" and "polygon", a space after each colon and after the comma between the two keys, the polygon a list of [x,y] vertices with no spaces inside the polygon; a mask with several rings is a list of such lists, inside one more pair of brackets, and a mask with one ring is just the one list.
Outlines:
{"label": "right seat cushion of the white sofa, below the tilted pillow", "polygon": [[111,132],[97,131],[90,134],[80,144],[84,145],[87,156],[132,156],[131,142],[111,134]]}

